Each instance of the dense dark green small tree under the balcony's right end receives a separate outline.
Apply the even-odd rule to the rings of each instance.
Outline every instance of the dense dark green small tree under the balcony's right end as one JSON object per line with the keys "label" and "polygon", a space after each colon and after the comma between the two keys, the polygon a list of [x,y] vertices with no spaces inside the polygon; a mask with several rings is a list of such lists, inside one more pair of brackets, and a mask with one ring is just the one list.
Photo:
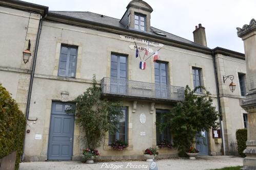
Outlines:
{"label": "dense dark green small tree under the balcony's right end", "polygon": [[218,124],[218,112],[212,106],[212,98],[209,91],[202,95],[196,95],[188,85],[185,88],[185,100],[178,102],[169,114],[163,114],[165,123],[157,124],[160,130],[170,128],[174,147],[178,148],[179,155],[185,156],[185,152],[195,143],[195,136],[201,130],[216,129]]}

